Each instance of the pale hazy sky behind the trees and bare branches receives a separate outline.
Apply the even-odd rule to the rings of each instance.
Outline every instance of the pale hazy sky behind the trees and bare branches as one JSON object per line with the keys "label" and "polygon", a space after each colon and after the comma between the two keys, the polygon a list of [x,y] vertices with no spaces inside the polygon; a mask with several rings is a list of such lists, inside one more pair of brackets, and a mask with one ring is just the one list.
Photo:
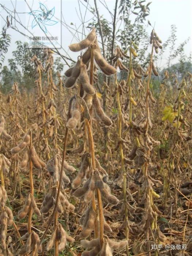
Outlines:
{"label": "pale hazy sky behind the trees and bare branches", "polygon": [[[38,4],[38,0],[27,1],[30,4],[30,6],[34,4],[34,1],[35,4]],[[84,38],[84,33],[89,33],[89,29],[85,28],[85,30],[83,31],[82,26],[79,27],[79,24],[81,23],[81,20],[84,19],[85,25],[87,25],[89,22],[91,22],[94,15],[91,14],[89,10],[86,10],[87,3],[83,0],[62,0],[61,5],[59,3],[60,1],[57,1],[56,3],[55,1],[52,0],[42,0],[41,3],[45,3],[46,5],[48,4],[47,1],[49,1],[49,4],[50,2],[54,3],[55,9],[61,10],[61,16],[63,20],[63,24],[61,26],[61,45],[64,50],[61,49],[59,51],[64,55],[68,53],[72,59],[76,60],[79,53],[72,53],[69,50],[68,45],[71,43],[78,42],[78,40]],[[185,46],[185,54],[189,56],[192,51],[192,0],[151,0],[151,2],[152,3],[150,4],[150,15],[147,16],[147,20],[150,20],[151,24],[155,25],[155,31],[157,31],[161,40],[165,42],[170,35],[171,25],[176,25],[176,46],[181,44],[185,39],[190,38],[189,42]],[[20,19],[23,25],[29,25],[29,23],[27,23],[27,20],[29,20],[30,15],[28,15],[28,13],[30,10],[26,5],[25,0],[1,0],[1,4],[11,11],[13,11],[15,8],[16,11],[19,12],[19,17],[16,15],[16,18]],[[109,21],[112,21],[111,15],[104,6],[105,4],[108,6],[108,9],[113,13],[115,0],[97,0],[99,14],[105,16],[105,18]],[[89,0],[89,8],[90,6],[94,7],[94,0]],[[2,29],[2,26],[5,24],[3,18],[6,19],[7,13],[3,8],[0,8],[0,14],[0,28]],[[12,12],[12,14],[14,15],[14,12]],[[132,14],[132,17],[135,18],[134,14]],[[147,20],[146,29],[150,34],[151,27],[147,25]],[[73,25],[71,25],[71,23]],[[67,25],[70,26],[70,30],[72,31],[72,33],[67,29]],[[20,25],[17,25],[17,27],[19,31],[25,33],[25,30],[23,30],[23,28]],[[75,27],[79,27],[79,34],[74,35],[73,31],[75,31]],[[11,28],[7,30],[7,33],[11,35],[12,40],[10,48],[5,58],[4,65],[8,64],[7,60],[12,57],[12,51],[16,49],[15,41],[26,41],[25,37],[23,37]],[[168,56],[169,52],[165,52],[163,54],[163,59],[161,60],[161,63],[159,63],[161,67],[166,66]]]}

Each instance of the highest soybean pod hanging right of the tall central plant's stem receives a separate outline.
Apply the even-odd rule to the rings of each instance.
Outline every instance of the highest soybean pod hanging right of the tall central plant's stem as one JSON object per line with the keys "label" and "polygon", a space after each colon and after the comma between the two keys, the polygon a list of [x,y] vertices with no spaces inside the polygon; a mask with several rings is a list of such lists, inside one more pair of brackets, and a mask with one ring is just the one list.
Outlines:
{"label": "highest soybean pod hanging right of the tall central plant's stem", "polygon": [[105,75],[113,75],[117,72],[116,68],[108,64],[108,62],[103,58],[100,49],[98,49],[98,46],[96,44],[94,44],[93,54],[97,65],[99,66],[99,68],[101,68]]}

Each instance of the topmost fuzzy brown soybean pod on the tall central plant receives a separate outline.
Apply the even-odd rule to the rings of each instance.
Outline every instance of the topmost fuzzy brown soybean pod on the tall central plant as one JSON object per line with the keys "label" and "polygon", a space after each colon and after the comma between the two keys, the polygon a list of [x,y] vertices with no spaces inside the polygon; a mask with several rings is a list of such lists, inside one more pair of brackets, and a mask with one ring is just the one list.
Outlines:
{"label": "topmost fuzzy brown soybean pod on the tall central plant", "polygon": [[72,52],[79,52],[80,50],[83,50],[87,48],[90,44],[92,44],[95,38],[96,38],[96,33],[95,33],[95,28],[93,28],[91,32],[87,35],[86,39],[79,42],[78,44],[69,45],[69,49]]}

